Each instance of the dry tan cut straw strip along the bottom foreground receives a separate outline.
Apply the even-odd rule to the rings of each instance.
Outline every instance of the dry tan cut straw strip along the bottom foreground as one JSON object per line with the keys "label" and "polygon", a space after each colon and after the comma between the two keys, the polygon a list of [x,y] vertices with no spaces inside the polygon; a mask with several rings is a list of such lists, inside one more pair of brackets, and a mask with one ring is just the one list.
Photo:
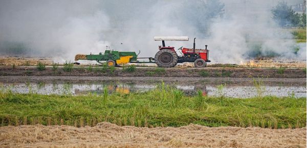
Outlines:
{"label": "dry tan cut straw strip along the bottom foreground", "polygon": [[0,128],[1,147],[306,147],[306,128],[189,125],[179,128],[19,126]]}

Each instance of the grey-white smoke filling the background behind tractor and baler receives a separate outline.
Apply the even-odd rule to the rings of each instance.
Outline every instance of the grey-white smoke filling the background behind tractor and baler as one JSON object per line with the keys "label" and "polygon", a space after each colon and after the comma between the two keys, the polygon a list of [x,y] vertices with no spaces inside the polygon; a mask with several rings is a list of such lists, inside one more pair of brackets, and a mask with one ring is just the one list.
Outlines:
{"label": "grey-white smoke filling the background behind tractor and baler", "polygon": [[305,59],[305,43],[295,43],[290,31],[272,20],[277,2],[0,1],[0,53],[73,60],[78,53],[103,52],[107,45],[153,57],[161,44],[153,36],[187,35],[189,41],[166,45],[192,47],[196,37],[196,48],[208,44],[209,59],[222,63],[259,54]]}

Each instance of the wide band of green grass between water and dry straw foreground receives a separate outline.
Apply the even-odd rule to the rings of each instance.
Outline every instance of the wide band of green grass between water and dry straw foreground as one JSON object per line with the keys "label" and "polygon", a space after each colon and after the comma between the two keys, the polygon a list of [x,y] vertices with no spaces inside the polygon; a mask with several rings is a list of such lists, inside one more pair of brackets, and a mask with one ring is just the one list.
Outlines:
{"label": "wide band of green grass between water and dry straw foreground", "polygon": [[[70,87],[70,86],[67,86]],[[41,95],[0,91],[0,124],[94,126],[108,121],[124,126],[262,128],[306,127],[306,98],[263,96],[229,98],[185,96],[162,83],[143,93]]]}

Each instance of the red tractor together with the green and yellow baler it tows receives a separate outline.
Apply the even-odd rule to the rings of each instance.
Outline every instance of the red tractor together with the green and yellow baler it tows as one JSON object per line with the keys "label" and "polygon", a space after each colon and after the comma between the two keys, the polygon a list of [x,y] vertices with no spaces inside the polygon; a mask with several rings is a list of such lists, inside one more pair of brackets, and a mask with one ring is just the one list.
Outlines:
{"label": "red tractor together with the green and yellow baler it tows", "polygon": [[[94,60],[100,64],[102,61],[106,61],[107,66],[115,66],[127,63],[156,63],[159,67],[174,67],[177,63],[183,62],[194,62],[195,67],[206,67],[208,60],[209,50],[207,45],[204,50],[195,49],[195,39],[193,48],[180,47],[182,56],[178,56],[174,47],[165,46],[165,41],[188,41],[187,36],[157,36],[155,40],[162,41],[162,46],[159,46],[159,52],[155,55],[155,58],[139,58],[135,52],[119,52],[112,50],[105,50],[104,54],[99,53],[98,55],[82,55],[78,54],[75,60]],[[139,61],[139,59],[148,59],[149,61]],[[153,61],[154,60],[154,61]]]}

